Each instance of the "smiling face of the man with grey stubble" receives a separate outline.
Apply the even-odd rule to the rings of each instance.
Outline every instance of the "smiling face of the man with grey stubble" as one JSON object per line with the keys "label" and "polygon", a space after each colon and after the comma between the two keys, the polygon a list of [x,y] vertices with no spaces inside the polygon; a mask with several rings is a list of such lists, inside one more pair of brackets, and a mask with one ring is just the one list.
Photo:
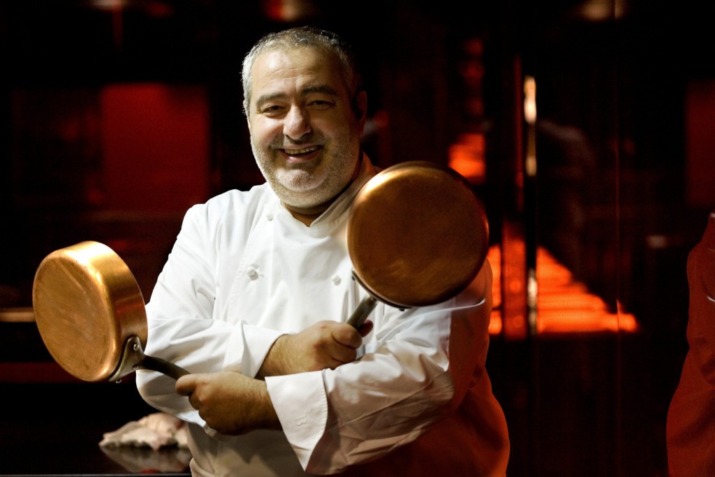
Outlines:
{"label": "smiling face of the man with grey stubble", "polygon": [[[365,122],[365,114],[355,117],[337,62],[312,49],[267,51],[251,78],[245,109],[266,180],[286,205],[329,202],[355,172]],[[364,93],[360,104],[364,112]]]}

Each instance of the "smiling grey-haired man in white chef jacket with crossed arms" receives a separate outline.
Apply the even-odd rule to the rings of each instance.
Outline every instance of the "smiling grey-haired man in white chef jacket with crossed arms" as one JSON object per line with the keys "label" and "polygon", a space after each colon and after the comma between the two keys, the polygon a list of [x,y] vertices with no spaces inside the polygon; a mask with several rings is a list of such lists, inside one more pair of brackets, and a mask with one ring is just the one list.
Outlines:
{"label": "smiling grey-haired man in white chef jacket with crossed arms", "polygon": [[243,88],[267,183],[187,212],[147,304],[146,352],[191,374],[137,373],[148,403],[189,423],[192,473],[503,475],[488,263],[458,299],[345,323],[366,295],[347,215],[375,174],[350,50],[326,31],[270,34],[245,58]]}

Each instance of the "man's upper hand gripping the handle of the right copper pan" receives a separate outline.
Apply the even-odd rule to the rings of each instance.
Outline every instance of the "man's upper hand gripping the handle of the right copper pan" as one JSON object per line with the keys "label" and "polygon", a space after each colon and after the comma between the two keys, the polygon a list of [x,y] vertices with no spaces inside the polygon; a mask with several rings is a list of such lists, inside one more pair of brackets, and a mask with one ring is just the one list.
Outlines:
{"label": "man's upper hand gripping the handle of the right copper pan", "polygon": [[359,331],[347,323],[320,321],[297,335],[282,335],[268,351],[257,377],[335,369],[351,363],[363,344],[363,336],[372,329],[369,320]]}

